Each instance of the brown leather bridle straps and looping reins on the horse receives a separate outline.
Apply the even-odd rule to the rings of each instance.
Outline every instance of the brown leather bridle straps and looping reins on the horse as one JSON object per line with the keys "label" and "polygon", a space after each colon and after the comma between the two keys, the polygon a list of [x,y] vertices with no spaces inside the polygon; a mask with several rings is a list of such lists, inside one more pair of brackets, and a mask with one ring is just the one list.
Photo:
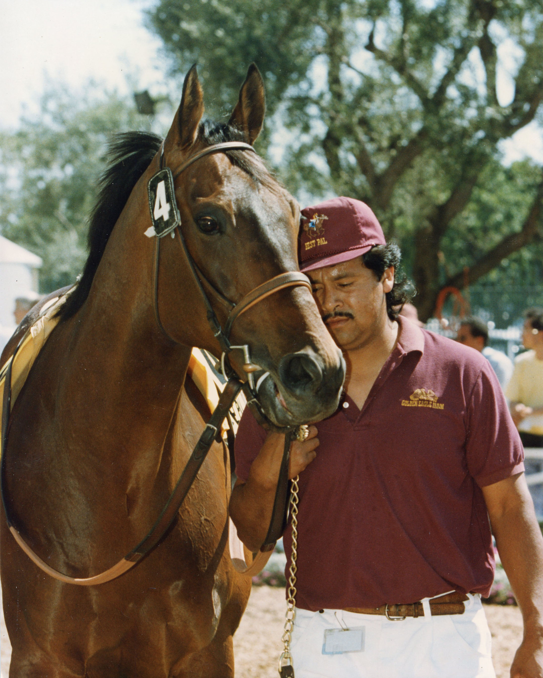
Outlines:
{"label": "brown leather bridle straps and looping reins on the horse", "polygon": [[[184,170],[190,167],[192,163],[196,162],[198,159],[204,157],[205,155],[209,155],[210,153],[226,153],[227,151],[252,151],[253,153],[255,153],[255,149],[253,148],[253,146],[250,146],[249,144],[245,144],[243,142],[223,142],[221,144],[213,144],[213,146],[207,146],[207,148],[204,148],[202,151],[190,156],[181,165],[181,167],[177,169],[173,178],[174,179],[177,178],[179,174],[181,174],[181,172],[184,172]],[[164,142],[162,142],[162,146],[160,147],[160,169],[162,169],[163,161],[164,161]],[[234,304],[230,300],[226,299],[218,290],[215,290],[215,287],[213,287],[213,285],[211,285],[211,283],[209,283],[209,281],[207,281],[204,278],[204,276],[201,275],[198,266],[196,266],[196,262],[194,262],[194,259],[192,258],[190,252],[188,251],[188,247],[186,245],[186,241],[183,237],[183,233],[181,231],[180,226],[181,224],[179,223],[175,227],[175,231],[179,236],[179,241],[181,243],[181,247],[190,266],[190,270],[192,271],[194,281],[196,281],[196,285],[200,290],[200,294],[202,294],[202,299],[207,308],[207,320],[209,322],[211,330],[213,331],[213,335],[215,336],[215,338],[217,338],[223,351],[223,357],[221,360],[221,364],[223,365],[223,373],[225,373],[225,371],[227,370],[229,374],[228,375],[225,374],[225,376],[228,376],[229,378],[227,380],[225,388],[223,389],[223,392],[219,397],[219,403],[217,404],[215,411],[211,415],[209,422],[207,422],[202,435],[200,435],[200,439],[198,439],[198,442],[196,443],[196,446],[194,447],[194,450],[192,451],[192,454],[185,468],[183,468],[181,476],[179,477],[179,480],[177,481],[173,489],[173,492],[169,496],[169,499],[167,500],[164,509],[162,509],[162,512],[156,519],[154,525],[151,527],[146,536],[139,542],[139,544],[137,544],[137,546],[135,546],[135,548],[132,549],[132,551],[127,553],[125,557],[123,557],[120,561],[118,561],[115,565],[110,567],[105,572],[87,578],[70,577],[66,574],[62,574],[62,572],[58,572],[58,570],[54,570],[53,567],[47,565],[47,563],[45,563],[39,557],[39,555],[32,551],[32,549],[30,548],[30,546],[28,546],[24,538],[22,538],[20,531],[15,527],[12,518],[10,517],[7,511],[7,505],[5,501],[4,469],[5,469],[5,453],[7,450],[7,437],[9,432],[10,414],[12,406],[12,366],[14,363],[14,357],[18,351],[18,348],[20,348],[20,346],[22,345],[24,338],[26,338],[26,334],[18,344],[16,350],[14,351],[12,355],[12,360],[10,361],[9,366],[7,368],[7,372],[5,374],[3,408],[2,408],[2,428],[1,428],[0,494],[3,503],[5,517],[7,520],[7,526],[9,527],[9,532],[12,533],[14,539],[19,544],[20,548],[24,551],[24,553],[26,553],[26,555],[28,555],[32,562],[35,563],[35,565],[37,565],[41,570],[43,570],[43,572],[45,572],[49,576],[57,580],[60,580],[61,582],[64,582],[66,584],[77,584],[79,586],[93,586],[95,584],[104,584],[105,582],[109,582],[112,579],[121,576],[121,574],[124,574],[125,572],[127,572],[127,570],[130,570],[131,567],[136,565],[136,563],[138,563],[145,555],[147,555],[147,553],[149,553],[149,551],[151,551],[151,549],[154,548],[154,546],[156,546],[156,544],[158,544],[158,542],[160,542],[162,537],[169,529],[170,525],[177,517],[179,509],[181,508],[181,504],[183,504],[183,500],[186,498],[190,490],[190,487],[192,487],[192,483],[194,482],[194,479],[196,478],[196,475],[200,470],[200,466],[202,466],[204,459],[206,458],[209,450],[211,449],[213,441],[218,439],[220,435],[221,425],[225,418],[227,417],[230,408],[234,404],[234,401],[236,397],[239,395],[242,388],[247,395],[247,404],[251,407],[251,410],[257,416],[257,419],[260,420],[261,422],[264,420],[264,422],[267,422],[269,426],[276,428],[276,430],[278,430],[277,427],[275,427],[273,424],[271,424],[271,422],[267,420],[260,406],[257,397],[257,388],[255,388],[254,382],[251,379],[253,374],[249,373],[248,380],[245,383],[243,383],[238,378],[237,374],[234,373],[232,367],[230,367],[230,365],[227,364],[226,360],[227,355],[234,349],[242,349],[244,351],[245,363],[251,364],[248,346],[232,346],[232,344],[230,344],[230,332],[232,330],[232,325],[234,325],[234,322],[238,317],[240,317],[240,315],[242,315],[242,313],[248,311],[249,308],[259,303],[270,294],[275,294],[275,292],[283,290],[285,287],[300,285],[308,287],[309,290],[311,290],[311,284],[309,283],[309,279],[307,279],[307,277],[303,275],[303,273],[299,273],[298,271],[289,271],[287,273],[280,273],[280,275],[276,275],[274,278],[271,278],[265,283],[262,283],[261,285],[255,287],[255,289],[251,290],[251,292],[248,292],[248,294],[246,294],[237,304]],[[169,232],[170,231],[168,231],[167,233]],[[154,314],[156,317],[156,321],[158,323],[158,327],[160,327],[162,333],[165,334],[165,336],[169,338],[170,341],[179,343],[166,332],[165,328],[163,327],[160,321],[160,316],[158,314],[158,264],[160,260],[160,239],[164,237],[164,235],[167,235],[167,233],[163,233],[162,235],[156,235],[155,265],[154,265],[154,295],[153,295]],[[173,233],[173,231],[172,237],[175,237],[175,233]],[[198,273],[200,273],[200,275],[198,275]],[[211,302],[209,301],[209,298],[204,290],[204,286],[202,285],[202,281],[200,280],[200,278],[202,278],[207,283],[207,285],[211,287],[213,292],[217,296],[219,296],[221,300],[223,300],[223,302],[227,302],[227,304],[230,304],[230,306],[232,307],[227,317],[224,330],[221,326],[221,323],[219,323],[219,319],[217,319],[217,315],[213,310],[213,306],[211,306]],[[288,451],[290,450],[290,441],[292,441],[294,436],[292,428],[284,428],[282,429],[282,431],[286,433],[283,461],[280,470],[278,487],[276,491],[276,498],[274,501],[274,510],[271,516],[271,523],[269,525],[269,530],[267,532],[265,542],[261,547],[261,551],[270,551],[271,549],[273,549],[275,541],[281,536],[282,530],[286,523],[284,509],[288,501]],[[252,572],[253,567],[252,566],[249,567],[248,570],[251,570]],[[249,574],[248,570],[246,574]]]}

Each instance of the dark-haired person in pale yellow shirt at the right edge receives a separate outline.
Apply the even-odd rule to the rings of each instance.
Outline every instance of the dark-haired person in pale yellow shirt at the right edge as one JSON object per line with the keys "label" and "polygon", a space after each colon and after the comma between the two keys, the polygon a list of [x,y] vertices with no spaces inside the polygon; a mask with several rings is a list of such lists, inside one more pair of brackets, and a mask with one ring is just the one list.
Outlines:
{"label": "dark-haired person in pale yellow shirt at the right edge", "polygon": [[511,416],[525,447],[543,447],[543,308],[529,308],[522,343],[528,349],[515,358],[506,388]]}

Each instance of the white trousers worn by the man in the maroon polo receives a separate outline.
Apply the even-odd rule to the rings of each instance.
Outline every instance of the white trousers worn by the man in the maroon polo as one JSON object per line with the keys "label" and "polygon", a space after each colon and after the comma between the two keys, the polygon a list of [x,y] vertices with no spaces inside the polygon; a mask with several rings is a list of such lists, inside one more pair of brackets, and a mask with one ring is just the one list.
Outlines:
{"label": "white trousers worn by the man in the maroon polo", "polygon": [[[403,621],[342,610],[297,610],[290,645],[295,676],[496,678],[481,597],[470,596],[464,605],[464,614],[408,617]],[[362,652],[323,654],[324,631],[341,626],[364,627]]]}

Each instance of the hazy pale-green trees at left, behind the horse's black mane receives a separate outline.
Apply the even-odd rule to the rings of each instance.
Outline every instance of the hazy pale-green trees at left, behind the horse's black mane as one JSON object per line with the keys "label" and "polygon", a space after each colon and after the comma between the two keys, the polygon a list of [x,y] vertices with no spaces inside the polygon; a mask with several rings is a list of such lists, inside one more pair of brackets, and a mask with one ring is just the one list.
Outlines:
{"label": "hazy pale-green trees at left, behind the horse's black mane", "polygon": [[1,233],[43,258],[41,292],[74,282],[83,268],[108,138],[145,125],[132,102],[93,85],[85,92],[51,85],[39,119],[0,134]]}

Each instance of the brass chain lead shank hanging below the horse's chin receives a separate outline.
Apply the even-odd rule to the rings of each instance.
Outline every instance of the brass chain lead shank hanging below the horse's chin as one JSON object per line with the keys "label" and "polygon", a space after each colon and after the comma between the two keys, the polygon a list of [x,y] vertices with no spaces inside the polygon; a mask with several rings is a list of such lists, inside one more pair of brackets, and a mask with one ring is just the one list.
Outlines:
{"label": "brass chain lead shank hanging below the horse's chin", "polygon": [[[299,426],[295,439],[303,442],[309,435],[307,426]],[[290,524],[292,525],[292,553],[290,555],[290,567],[288,568],[288,589],[286,591],[286,614],[284,631],[281,638],[283,643],[283,652],[279,658],[279,675],[281,678],[294,678],[294,668],[292,667],[292,655],[290,654],[290,642],[292,641],[292,629],[296,618],[296,560],[298,557],[298,481],[297,475],[292,479],[290,486]],[[284,662],[284,663],[283,663]]]}

